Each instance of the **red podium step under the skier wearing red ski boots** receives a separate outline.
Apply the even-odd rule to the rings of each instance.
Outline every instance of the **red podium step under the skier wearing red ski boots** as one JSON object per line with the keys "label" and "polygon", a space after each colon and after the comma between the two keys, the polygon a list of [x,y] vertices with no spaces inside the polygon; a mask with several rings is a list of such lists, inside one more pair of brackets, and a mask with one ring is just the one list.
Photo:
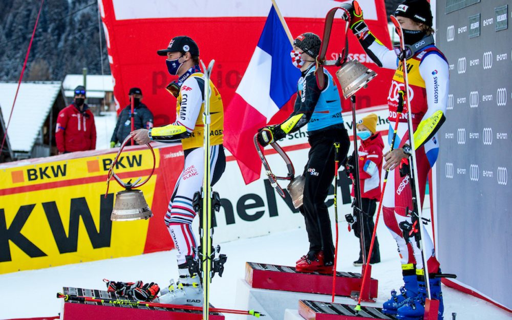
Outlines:
{"label": "red podium step under the skier wearing red ski boots", "polygon": [[[304,273],[294,267],[247,262],[245,281],[258,289],[332,294],[332,274]],[[361,274],[336,272],[335,295],[350,296],[361,288]],[[370,280],[370,297],[377,297],[378,281]]]}

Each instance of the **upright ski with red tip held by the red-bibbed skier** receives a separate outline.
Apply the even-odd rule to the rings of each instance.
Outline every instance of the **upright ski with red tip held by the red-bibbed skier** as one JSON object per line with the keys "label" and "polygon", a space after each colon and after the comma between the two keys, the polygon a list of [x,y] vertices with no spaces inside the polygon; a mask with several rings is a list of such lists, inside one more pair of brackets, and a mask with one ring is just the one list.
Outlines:
{"label": "upright ski with red tip held by the red-bibbed skier", "polygon": [[[394,15],[390,16],[391,22],[393,22],[393,25],[395,25],[395,29],[398,33],[398,36],[400,37],[400,57],[399,59],[402,62],[402,74],[403,74],[403,84],[405,85],[405,96],[406,96],[406,102],[407,102],[407,125],[408,125],[408,131],[409,131],[409,142],[411,143],[411,158],[412,161],[410,161],[409,164],[409,170],[410,170],[410,180],[411,180],[411,193],[412,193],[412,203],[413,203],[413,217],[412,220],[415,219],[415,215],[417,216],[416,219],[418,221],[418,237],[420,238],[419,241],[416,238],[417,246],[421,250],[421,260],[423,262],[423,270],[425,273],[425,287],[426,287],[426,296],[429,298],[431,297],[430,292],[430,281],[429,281],[429,267],[427,265],[428,258],[426,258],[426,253],[424,252],[423,248],[425,247],[425,239],[422,236],[422,229],[423,226],[421,225],[421,203],[419,201],[419,180],[418,180],[418,162],[416,160],[416,145],[414,144],[414,129],[413,129],[413,123],[412,123],[412,109],[411,109],[411,101],[409,100],[409,78],[407,74],[407,59],[406,59],[406,45],[403,40],[403,32],[402,27],[396,17]],[[413,224],[414,225],[414,224]]]}

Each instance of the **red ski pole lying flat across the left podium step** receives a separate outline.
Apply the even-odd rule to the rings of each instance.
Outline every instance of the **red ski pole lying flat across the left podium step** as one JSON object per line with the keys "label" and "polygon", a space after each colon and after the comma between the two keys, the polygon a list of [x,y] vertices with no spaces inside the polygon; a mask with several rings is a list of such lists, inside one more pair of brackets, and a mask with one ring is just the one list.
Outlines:
{"label": "red ski pole lying flat across the left podium step", "polygon": [[[194,310],[194,311],[202,311],[203,310],[203,307],[172,305],[172,304],[157,303],[157,302],[145,302],[145,301],[130,301],[130,300],[122,300],[122,299],[96,298],[96,297],[92,297],[92,296],[63,294],[60,292],[57,293],[57,298],[63,298],[64,301],[98,302],[98,303],[110,303],[113,305],[144,306],[144,307]],[[262,314],[258,311],[254,311],[254,310],[234,310],[234,309],[223,309],[223,308],[209,308],[209,311],[219,312],[219,313],[248,314],[248,315],[253,315],[257,318],[259,318],[260,316],[265,316],[265,314]]]}

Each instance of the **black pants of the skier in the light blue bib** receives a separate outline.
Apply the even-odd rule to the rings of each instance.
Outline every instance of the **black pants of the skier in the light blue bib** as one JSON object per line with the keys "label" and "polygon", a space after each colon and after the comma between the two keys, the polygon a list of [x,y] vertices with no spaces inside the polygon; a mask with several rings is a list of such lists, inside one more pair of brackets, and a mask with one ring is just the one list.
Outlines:
{"label": "black pants of the skier in the light blue bib", "polygon": [[349,137],[346,129],[325,130],[309,137],[308,163],[304,167],[306,178],[303,205],[300,208],[306,222],[310,258],[324,251],[324,262],[334,261],[331,221],[325,204],[334,178],[334,142],[340,144],[340,162],[347,157]]}

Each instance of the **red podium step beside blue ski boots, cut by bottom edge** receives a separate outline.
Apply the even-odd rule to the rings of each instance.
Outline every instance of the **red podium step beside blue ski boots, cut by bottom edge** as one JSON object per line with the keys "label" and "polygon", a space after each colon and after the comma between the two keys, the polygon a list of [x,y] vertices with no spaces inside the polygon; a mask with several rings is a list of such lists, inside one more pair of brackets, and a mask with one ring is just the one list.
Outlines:
{"label": "red podium step beside blue ski boots, cut by bottom edge", "polygon": [[382,308],[361,306],[356,315],[355,305],[318,302],[309,300],[298,301],[298,313],[306,320],[360,320],[385,319],[396,320],[395,316],[383,314]]}

